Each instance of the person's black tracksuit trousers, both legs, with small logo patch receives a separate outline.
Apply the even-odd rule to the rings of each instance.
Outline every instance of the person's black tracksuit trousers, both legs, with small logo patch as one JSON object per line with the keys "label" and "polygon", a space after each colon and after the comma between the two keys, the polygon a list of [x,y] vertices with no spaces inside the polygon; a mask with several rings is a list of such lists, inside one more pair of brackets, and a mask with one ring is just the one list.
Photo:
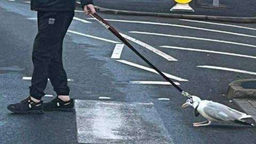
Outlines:
{"label": "person's black tracksuit trousers, both legs, with small logo patch", "polygon": [[41,99],[49,78],[57,95],[69,95],[67,74],[62,64],[62,44],[74,11],[37,12],[38,33],[33,48],[30,96]]}

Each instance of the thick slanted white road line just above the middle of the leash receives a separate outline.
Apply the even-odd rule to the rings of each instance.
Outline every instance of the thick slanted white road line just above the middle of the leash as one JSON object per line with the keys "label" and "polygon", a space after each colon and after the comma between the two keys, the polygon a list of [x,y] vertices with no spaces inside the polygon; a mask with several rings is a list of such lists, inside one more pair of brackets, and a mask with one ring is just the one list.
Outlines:
{"label": "thick slanted white road line just above the middle of the leash", "polygon": [[[121,33],[120,33],[120,34],[121,34]],[[161,57],[165,58],[166,60],[169,60],[169,61],[178,61],[177,59],[171,57],[170,55],[168,55],[168,54],[166,54],[166,53],[164,53],[164,52],[162,52],[162,51],[159,51],[159,50],[157,50],[155,47],[153,47],[153,46],[151,46],[151,45],[148,45],[148,44],[146,44],[146,43],[144,43],[144,42],[141,42],[141,41],[139,41],[138,39],[132,38],[132,37],[127,36],[127,35],[125,35],[125,34],[121,34],[121,35],[122,35],[124,38],[126,38],[126,39],[128,39],[128,40],[130,40],[130,41],[132,41],[132,42],[134,42],[134,43],[137,43],[137,44],[139,44],[139,45],[145,47],[146,49],[148,49],[148,50],[150,50],[150,51],[152,51],[152,52],[154,52],[154,53],[160,55]]]}

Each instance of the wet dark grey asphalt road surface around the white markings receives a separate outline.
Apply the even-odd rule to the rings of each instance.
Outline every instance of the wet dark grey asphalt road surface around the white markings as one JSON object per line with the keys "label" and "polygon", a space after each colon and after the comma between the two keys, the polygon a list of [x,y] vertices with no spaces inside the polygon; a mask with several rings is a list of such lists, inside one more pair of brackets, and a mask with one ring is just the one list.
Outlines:
{"label": "wet dark grey asphalt road surface around the white markings", "polygon": [[[29,4],[23,1],[0,2],[0,143],[77,143],[74,113],[52,112],[44,115],[20,116],[10,114],[6,110],[9,103],[17,102],[28,95],[30,81],[23,80],[22,77],[30,77],[33,70],[31,51],[37,30],[36,21],[29,19],[36,18],[36,13],[29,9]],[[177,26],[110,22],[121,33],[137,38],[177,59],[178,61],[167,61],[145,49],[145,47],[132,43],[165,73],[188,79],[189,82],[175,82],[179,82],[184,90],[198,95],[202,99],[209,99],[235,107],[223,95],[226,93],[228,84],[236,79],[255,78],[255,74],[197,67],[217,66],[256,72],[254,58],[159,47],[162,45],[187,47],[256,57],[256,41],[253,37],[256,36],[256,26],[254,24],[226,23],[254,28],[246,29],[188,22],[179,19],[133,17],[103,13],[100,13],[100,15],[107,19],[171,23],[179,26],[250,35],[239,36]],[[76,12],[75,17],[92,23],[74,20],[69,30],[119,42],[97,21],[86,19],[90,17],[83,13]],[[129,31],[179,35],[194,37],[194,39],[145,35],[129,33]],[[203,41],[195,39],[195,37],[218,39],[222,42]],[[250,46],[237,43],[250,44]],[[68,77],[74,79],[73,82],[69,82],[73,98],[99,100],[99,97],[110,97],[111,101],[153,102],[174,143],[255,143],[256,130],[250,127],[220,124],[208,127],[193,127],[193,122],[202,121],[203,118],[195,118],[194,110],[191,108],[182,109],[181,105],[186,101],[186,98],[182,97],[170,85],[130,84],[130,81],[164,81],[164,79],[157,74],[111,59],[115,45],[115,43],[95,38],[72,33],[67,34],[64,43],[63,61]],[[122,52],[121,60],[148,67],[126,46]],[[54,94],[50,85],[45,92]],[[158,98],[169,98],[170,101],[159,101]],[[46,101],[50,99],[44,98]]]}

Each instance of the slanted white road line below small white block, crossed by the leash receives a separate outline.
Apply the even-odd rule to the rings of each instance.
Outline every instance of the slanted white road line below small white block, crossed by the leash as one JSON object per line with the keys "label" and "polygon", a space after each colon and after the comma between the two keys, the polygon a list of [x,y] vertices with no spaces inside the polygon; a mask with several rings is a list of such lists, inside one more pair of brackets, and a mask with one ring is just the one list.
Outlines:
{"label": "slanted white road line below small white block, crossed by the leash", "polygon": [[[141,66],[141,65],[138,65],[136,63],[132,63],[130,61],[126,61],[126,60],[116,60],[118,62],[121,62],[121,63],[124,63],[126,65],[129,65],[129,66],[132,66],[132,67],[136,67],[136,68],[140,68],[140,69],[143,69],[143,70],[147,70],[147,71],[150,71],[152,73],[157,73],[156,70],[152,69],[152,68],[148,68],[148,67],[145,67],[145,66]],[[175,79],[177,81],[180,81],[180,82],[188,82],[187,79],[183,79],[183,78],[180,78],[180,77],[177,77],[177,76],[173,76],[173,75],[170,75],[170,74],[167,74],[167,73],[163,73],[165,76],[169,77],[169,78],[172,78],[172,79]]]}

